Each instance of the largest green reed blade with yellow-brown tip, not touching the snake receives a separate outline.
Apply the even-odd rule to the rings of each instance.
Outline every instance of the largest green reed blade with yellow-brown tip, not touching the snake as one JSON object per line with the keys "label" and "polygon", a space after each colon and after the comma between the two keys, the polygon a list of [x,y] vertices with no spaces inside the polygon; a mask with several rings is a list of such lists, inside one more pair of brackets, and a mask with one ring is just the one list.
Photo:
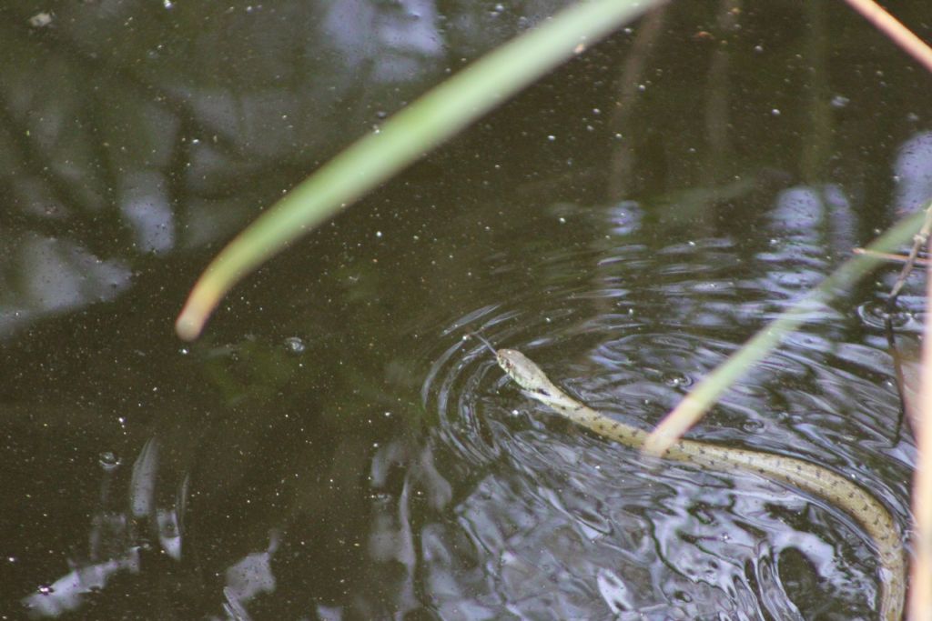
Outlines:
{"label": "largest green reed blade with yellow-brown tip, not touching the snake", "polygon": [[496,48],[393,115],[324,164],[240,233],[208,265],[175,321],[197,338],[220,299],[242,277],[340,209],[449,139],[621,24],[665,0],[589,0]]}

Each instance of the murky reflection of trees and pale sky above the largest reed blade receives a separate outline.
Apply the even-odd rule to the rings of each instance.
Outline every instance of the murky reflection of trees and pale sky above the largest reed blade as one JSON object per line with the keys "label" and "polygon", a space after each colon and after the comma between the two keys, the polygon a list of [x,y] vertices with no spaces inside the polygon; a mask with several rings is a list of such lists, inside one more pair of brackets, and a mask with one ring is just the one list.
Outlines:
{"label": "murky reflection of trees and pale sky above the largest reed blade", "polygon": [[[447,49],[459,59],[495,43],[484,9],[442,18],[429,0],[75,3],[0,17],[0,154],[21,213],[0,248],[0,336],[113,299],[144,259],[231,235],[435,81]],[[498,21],[498,39],[518,27]]]}

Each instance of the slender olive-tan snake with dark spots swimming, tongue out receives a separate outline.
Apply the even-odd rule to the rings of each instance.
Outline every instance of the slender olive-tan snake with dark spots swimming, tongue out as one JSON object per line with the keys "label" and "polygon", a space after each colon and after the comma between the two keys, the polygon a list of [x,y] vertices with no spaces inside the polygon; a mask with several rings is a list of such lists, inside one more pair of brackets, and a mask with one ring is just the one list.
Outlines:
{"label": "slender olive-tan snake with dark spots swimming, tongue out", "polygon": [[[502,371],[519,385],[529,398],[540,401],[571,422],[596,432],[603,438],[639,449],[648,432],[626,425],[609,414],[596,412],[571,398],[547,377],[530,358],[515,349],[487,345]],[[720,472],[744,471],[812,493],[836,506],[870,535],[876,551],[880,582],[880,619],[902,621],[906,597],[906,553],[896,520],[886,507],[867,490],[842,475],[795,457],[772,452],[737,449],[692,439],[681,439],[663,455],[666,459]]]}

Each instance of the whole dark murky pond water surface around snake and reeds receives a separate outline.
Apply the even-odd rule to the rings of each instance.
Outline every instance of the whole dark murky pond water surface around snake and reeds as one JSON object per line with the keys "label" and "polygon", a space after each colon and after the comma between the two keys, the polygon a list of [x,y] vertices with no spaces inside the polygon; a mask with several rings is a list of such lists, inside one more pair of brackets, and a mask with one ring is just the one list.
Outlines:
{"label": "whole dark murky pond water surface around snake and reeds", "polygon": [[[0,7],[3,618],[876,618],[837,507],[645,463],[464,339],[652,425],[932,194],[930,78],[842,3],[674,3],[174,337],[240,227],[559,6]],[[907,526],[894,276],[815,309],[692,437],[835,469]]]}

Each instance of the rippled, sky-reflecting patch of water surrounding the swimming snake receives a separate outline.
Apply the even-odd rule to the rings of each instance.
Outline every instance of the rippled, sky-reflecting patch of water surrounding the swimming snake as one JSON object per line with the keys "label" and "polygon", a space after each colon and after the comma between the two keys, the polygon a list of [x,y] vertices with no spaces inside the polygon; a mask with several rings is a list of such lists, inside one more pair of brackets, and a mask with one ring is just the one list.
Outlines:
{"label": "rippled, sky-reflecting patch of water surrounding the swimming snake", "polygon": [[[635,206],[623,209],[624,222],[637,223]],[[606,215],[618,222],[616,209]],[[528,293],[533,301],[477,309],[450,333],[480,331],[518,347],[593,407],[651,425],[807,288],[788,286],[801,252],[816,259],[827,241],[849,243],[819,230],[788,231],[777,246],[793,252],[772,244],[766,261],[747,263],[753,250],[727,238],[655,248],[627,227],[624,243],[541,257],[532,269],[546,284]],[[890,431],[898,415],[890,359],[848,342],[852,328],[850,315],[813,308],[805,330],[750,371],[701,434],[838,468],[902,519],[907,465]],[[469,339],[435,358],[423,395],[441,416],[447,450],[485,473],[455,523],[431,532],[447,554],[426,571],[459,584],[445,591],[445,617],[870,618],[870,546],[820,500],[752,476],[645,463],[520,395]],[[463,536],[473,565],[451,558]]]}

